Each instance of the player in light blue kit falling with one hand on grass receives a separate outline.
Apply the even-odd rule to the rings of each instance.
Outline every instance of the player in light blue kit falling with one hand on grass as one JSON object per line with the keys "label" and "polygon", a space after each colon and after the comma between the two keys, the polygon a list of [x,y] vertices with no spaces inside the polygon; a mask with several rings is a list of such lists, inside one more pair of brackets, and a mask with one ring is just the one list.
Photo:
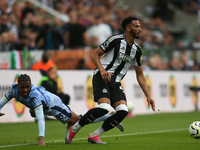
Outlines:
{"label": "player in light blue kit falling with one hand on grass", "polygon": [[[35,87],[31,84],[31,79],[26,74],[21,74],[18,77],[18,83],[12,84],[12,87],[6,92],[4,97],[0,99],[0,110],[1,108],[12,98],[15,98],[20,103],[24,104],[31,111],[31,116],[36,116],[38,120],[39,129],[39,141],[37,145],[45,145],[45,115],[54,116],[57,120],[63,124],[75,124],[80,120],[81,116],[75,114],[69,105],[62,103],[62,100],[45,90],[44,87]],[[5,115],[1,113],[0,116]],[[110,114],[107,114],[110,116]],[[97,121],[103,121],[107,118],[105,115],[103,118],[98,118]],[[121,127],[121,129],[120,129]],[[123,130],[123,124],[119,126],[119,129]]]}

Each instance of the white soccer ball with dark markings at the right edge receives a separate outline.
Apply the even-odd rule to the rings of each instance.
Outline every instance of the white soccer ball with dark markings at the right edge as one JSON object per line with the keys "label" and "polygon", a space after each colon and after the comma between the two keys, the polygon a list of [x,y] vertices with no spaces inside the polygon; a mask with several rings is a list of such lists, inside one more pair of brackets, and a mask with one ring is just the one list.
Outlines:
{"label": "white soccer ball with dark markings at the right edge", "polygon": [[189,134],[194,139],[200,139],[200,121],[195,121],[189,126]]}

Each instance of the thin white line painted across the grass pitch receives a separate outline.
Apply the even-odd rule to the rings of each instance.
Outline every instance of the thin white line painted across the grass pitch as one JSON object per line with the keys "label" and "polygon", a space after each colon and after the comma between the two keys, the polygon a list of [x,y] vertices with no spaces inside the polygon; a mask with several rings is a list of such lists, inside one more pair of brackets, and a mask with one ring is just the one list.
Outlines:
{"label": "thin white line painted across the grass pitch", "polygon": [[[139,132],[139,133],[128,133],[128,134],[118,134],[118,135],[107,135],[107,136],[101,136],[101,138],[108,138],[108,137],[118,137],[118,136],[130,136],[130,135],[140,135],[140,134],[152,134],[152,133],[163,133],[163,132],[173,132],[173,131],[181,131],[181,130],[187,130],[188,128],[180,128],[180,129],[170,129],[170,130],[160,130],[160,131],[150,131],[150,132]],[[85,140],[87,138],[75,138],[74,140]],[[53,142],[61,142],[64,140],[56,140]],[[52,141],[47,141],[45,143],[52,143]],[[5,147],[14,147],[14,146],[25,146],[25,145],[33,145],[36,143],[26,143],[26,144],[13,144],[13,145],[2,145],[0,148]]]}

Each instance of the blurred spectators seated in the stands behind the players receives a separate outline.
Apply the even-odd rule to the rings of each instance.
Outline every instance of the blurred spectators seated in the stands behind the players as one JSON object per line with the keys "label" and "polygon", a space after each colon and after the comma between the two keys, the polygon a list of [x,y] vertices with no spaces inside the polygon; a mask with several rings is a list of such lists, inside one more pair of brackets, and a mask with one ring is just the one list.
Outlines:
{"label": "blurred spectators seated in the stands behind the players", "polygon": [[[63,19],[50,16],[30,1],[0,0],[0,52],[95,49],[112,34],[124,32],[121,21],[126,16],[139,19],[142,32],[137,43],[146,50],[200,49],[200,35],[184,45],[170,34],[162,17],[146,21],[137,16],[135,7],[116,0],[38,1],[59,12]],[[145,57],[143,65],[153,70],[199,70],[196,60],[190,60],[185,54],[168,62],[155,54]]]}

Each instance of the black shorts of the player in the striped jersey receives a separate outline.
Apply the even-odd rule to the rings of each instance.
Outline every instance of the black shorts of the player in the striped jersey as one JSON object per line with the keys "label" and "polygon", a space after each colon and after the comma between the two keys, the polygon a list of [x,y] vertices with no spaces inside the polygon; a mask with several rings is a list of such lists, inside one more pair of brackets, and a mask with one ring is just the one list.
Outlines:
{"label": "black shorts of the player in the striped jersey", "polygon": [[92,84],[95,102],[103,97],[110,99],[111,106],[120,100],[126,101],[126,95],[120,82],[111,81],[106,83],[102,79],[100,72],[98,72],[93,76]]}

